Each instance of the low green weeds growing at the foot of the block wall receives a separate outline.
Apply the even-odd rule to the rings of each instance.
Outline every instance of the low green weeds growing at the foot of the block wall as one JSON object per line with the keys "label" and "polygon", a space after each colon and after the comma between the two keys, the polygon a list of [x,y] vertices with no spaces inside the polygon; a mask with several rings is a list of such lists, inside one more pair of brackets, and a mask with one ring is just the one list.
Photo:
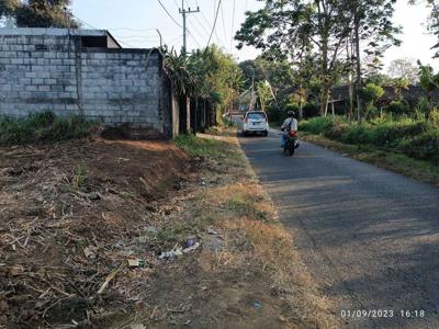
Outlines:
{"label": "low green weeds growing at the foot of the block wall", "polygon": [[58,117],[45,111],[24,118],[0,117],[0,145],[82,138],[97,124],[81,116]]}

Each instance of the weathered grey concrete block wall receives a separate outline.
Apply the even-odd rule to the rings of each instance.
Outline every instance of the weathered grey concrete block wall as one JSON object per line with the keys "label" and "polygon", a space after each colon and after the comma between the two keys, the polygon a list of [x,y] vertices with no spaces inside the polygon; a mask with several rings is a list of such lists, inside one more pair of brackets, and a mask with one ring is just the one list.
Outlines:
{"label": "weathered grey concrete block wall", "polygon": [[67,30],[16,30],[0,29],[0,114],[50,110],[172,132],[170,91],[164,90],[169,83],[157,52],[82,48],[80,36]]}

